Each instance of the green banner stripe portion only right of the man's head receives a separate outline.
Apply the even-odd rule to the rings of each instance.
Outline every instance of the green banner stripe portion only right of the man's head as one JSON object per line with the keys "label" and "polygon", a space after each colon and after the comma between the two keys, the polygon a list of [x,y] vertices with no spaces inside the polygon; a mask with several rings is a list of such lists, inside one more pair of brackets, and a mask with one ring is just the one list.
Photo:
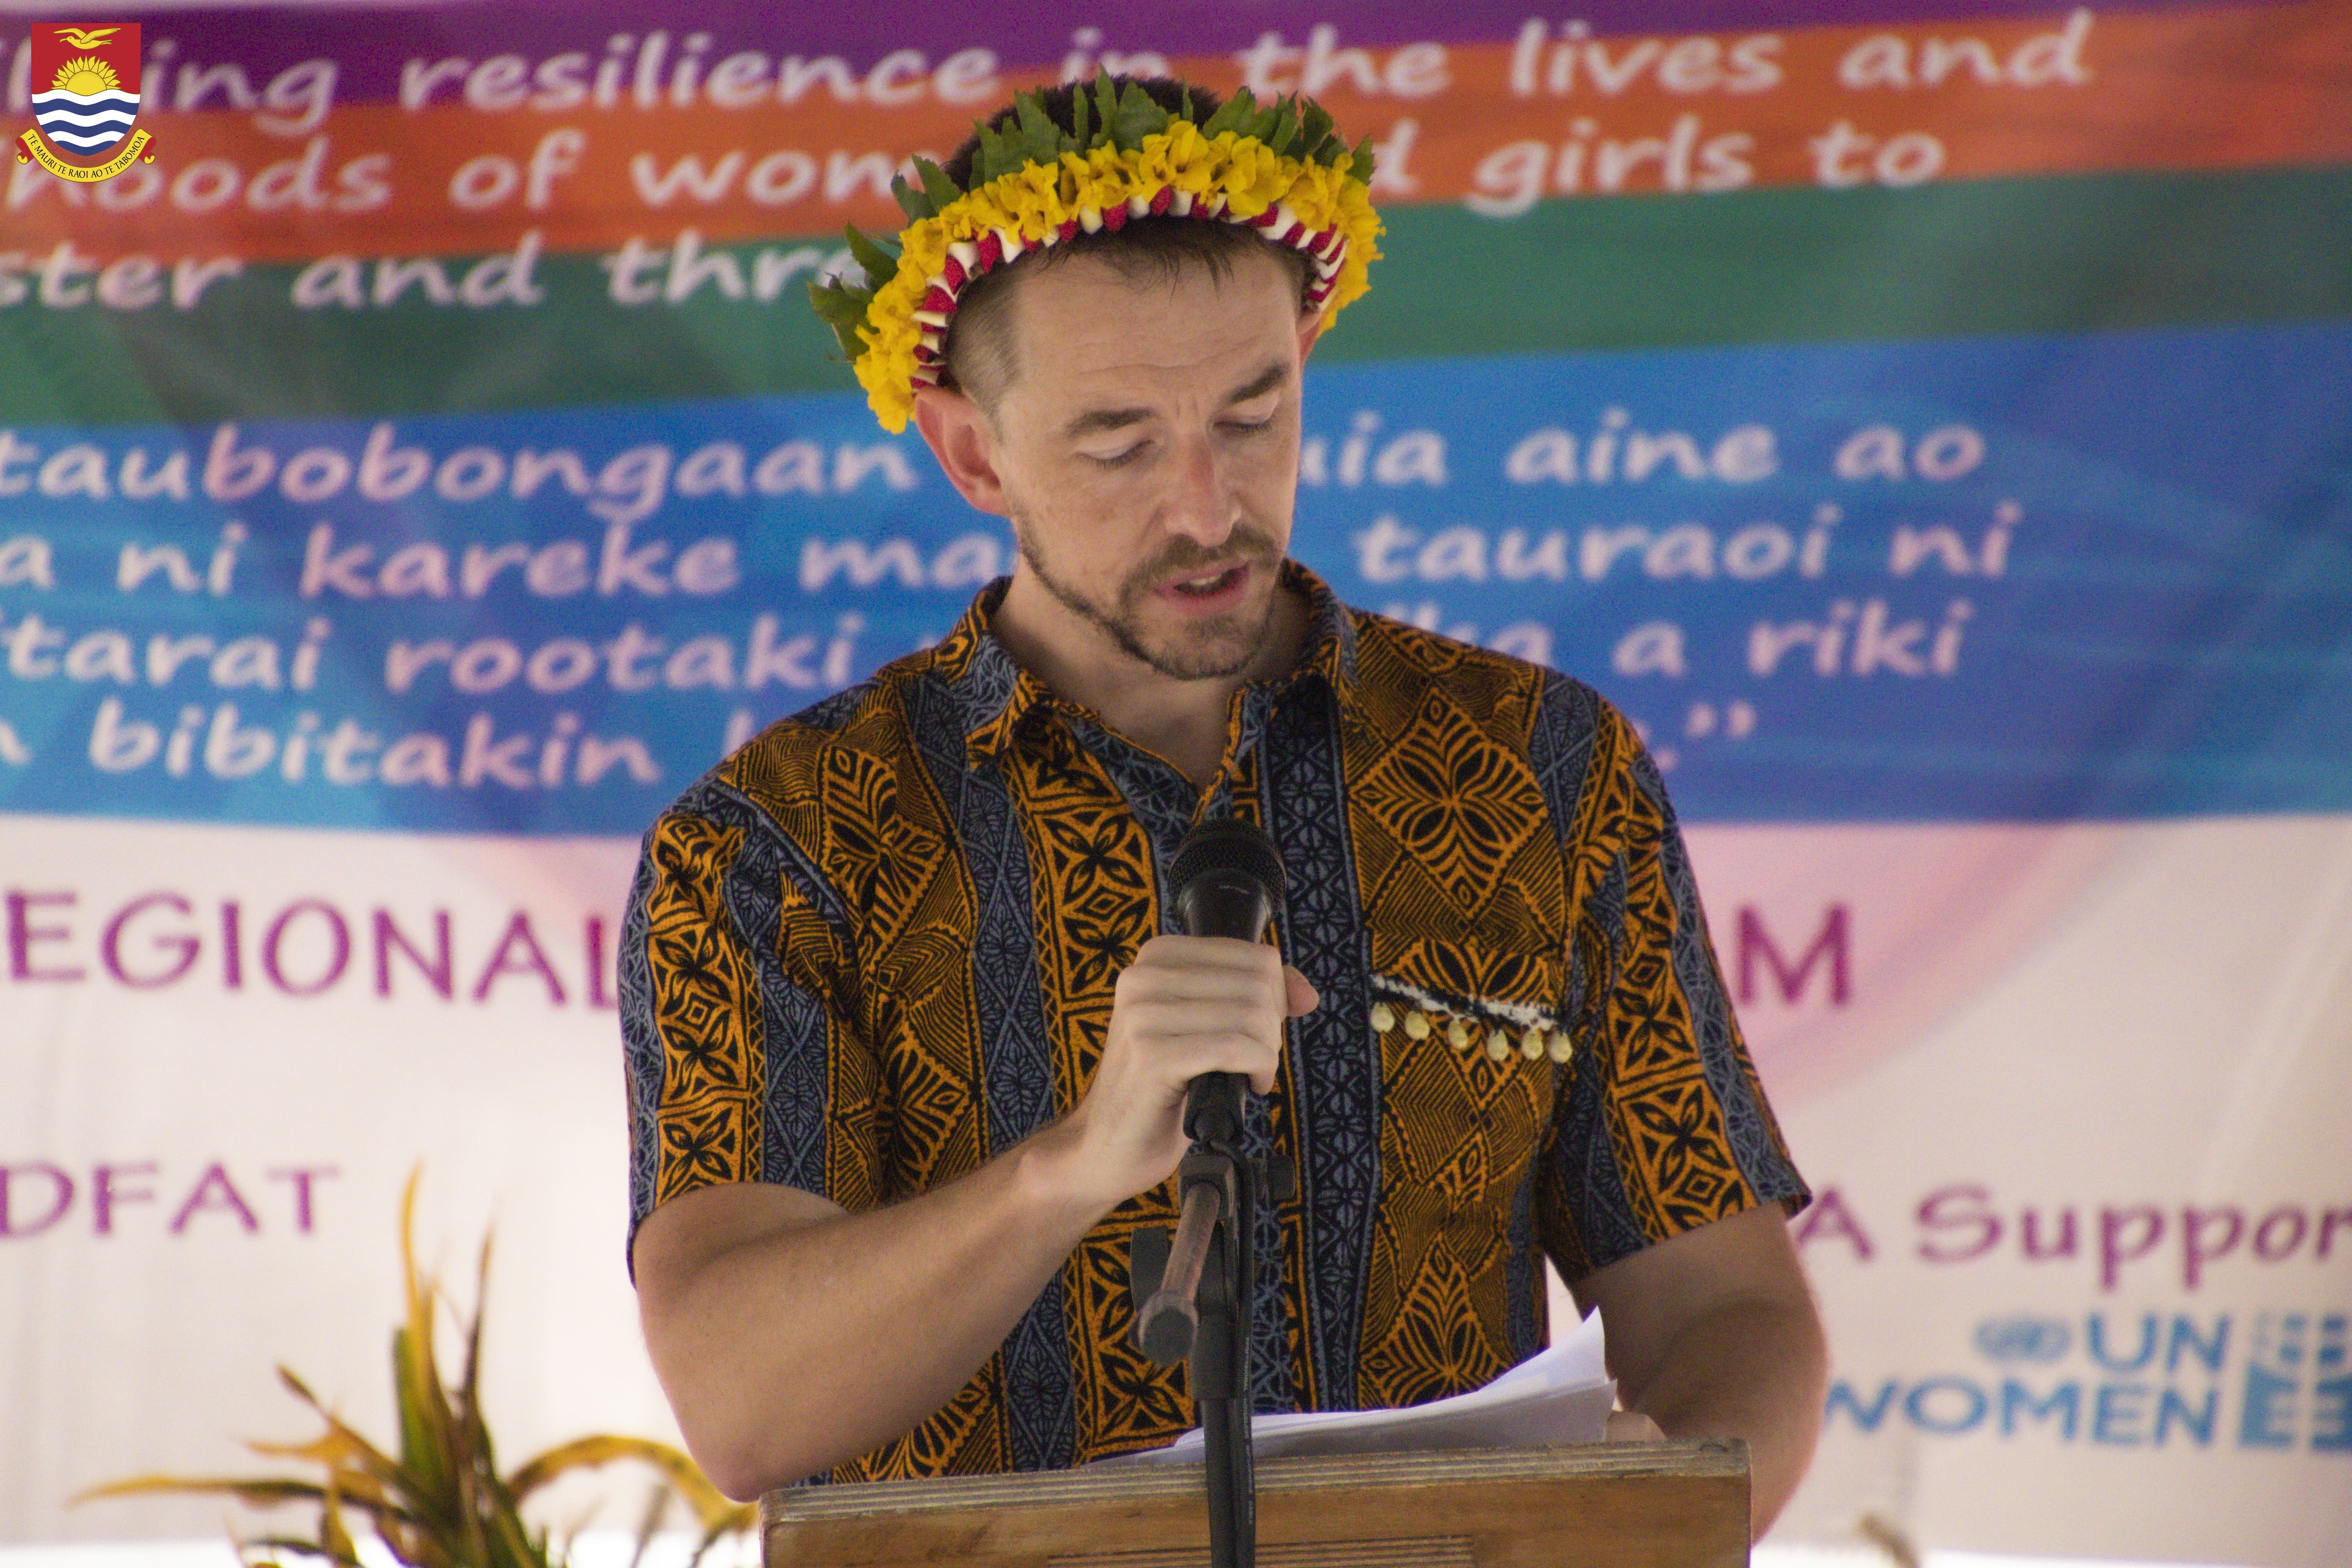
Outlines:
{"label": "green banner stripe portion only right of the man's head", "polygon": [[2352,169],[1999,179],[1390,216],[1336,357],[2065,334],[2352,315]]}

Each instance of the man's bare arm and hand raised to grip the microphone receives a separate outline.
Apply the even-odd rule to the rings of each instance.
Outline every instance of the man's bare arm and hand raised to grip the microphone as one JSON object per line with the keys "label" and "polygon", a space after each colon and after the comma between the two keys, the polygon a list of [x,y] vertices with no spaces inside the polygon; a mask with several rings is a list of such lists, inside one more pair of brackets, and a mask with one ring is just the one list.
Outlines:
{"label": "man's bare arm and hand raised to grip the microphone", "polygon": [[755,1182],[656,1208],[637,1312],[687,1448],[753,1497],[938,1410],[1087,1229],[1176,1171],[1192,1077],[1265,1093],[1284,1013],[1312,1006],[1270,947],[1160,936],[1117,980],[1084,1103],[971,1175],[868,1213]]}

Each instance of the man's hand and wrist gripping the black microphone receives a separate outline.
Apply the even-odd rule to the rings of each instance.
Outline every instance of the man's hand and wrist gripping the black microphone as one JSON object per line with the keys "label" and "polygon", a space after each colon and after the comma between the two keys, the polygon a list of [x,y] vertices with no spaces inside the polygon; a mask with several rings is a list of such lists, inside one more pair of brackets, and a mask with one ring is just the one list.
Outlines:
{"label": "man's hand and wrist gripping the black microphone", "polygon": [[1202,1072],[1240,1072],[1265,1093],[1282,1067],[1282,1020],[1312,1013],[1315,987],[1272,947],[1223,936],[1155,936],[1117,980],[1094,1086],[1051,1138],[1075,1194],[1120,1204],[1183,1161],[1183,1098]]}

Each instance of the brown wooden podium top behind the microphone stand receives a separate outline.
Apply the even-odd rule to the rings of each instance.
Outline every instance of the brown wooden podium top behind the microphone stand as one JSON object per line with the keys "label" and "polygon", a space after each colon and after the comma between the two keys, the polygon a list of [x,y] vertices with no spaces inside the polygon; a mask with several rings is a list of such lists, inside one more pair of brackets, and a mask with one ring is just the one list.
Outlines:
{"label": "brown wooden podium top behind the microphone stand", "polygon": [[[1207,1568],[1200,1465],[811,1486],[760,1500],[764,1568]],[[1263,1568],[1733,1568],[1748,1443],[1258,1462]]]}

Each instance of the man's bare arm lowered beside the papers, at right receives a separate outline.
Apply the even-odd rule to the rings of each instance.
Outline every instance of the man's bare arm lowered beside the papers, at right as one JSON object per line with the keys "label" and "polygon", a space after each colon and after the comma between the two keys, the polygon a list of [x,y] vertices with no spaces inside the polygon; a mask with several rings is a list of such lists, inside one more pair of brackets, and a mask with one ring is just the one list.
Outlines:
{"label": "man's bare arm lowered beside the papers, at right", "polygon": [[1748,1439],[1750,1537],[1820,1436],[1830,1352],[1780,1204],[1682,1232],[1569,1286],[1599,1307],[1618,1401],[1668,1436]]}

